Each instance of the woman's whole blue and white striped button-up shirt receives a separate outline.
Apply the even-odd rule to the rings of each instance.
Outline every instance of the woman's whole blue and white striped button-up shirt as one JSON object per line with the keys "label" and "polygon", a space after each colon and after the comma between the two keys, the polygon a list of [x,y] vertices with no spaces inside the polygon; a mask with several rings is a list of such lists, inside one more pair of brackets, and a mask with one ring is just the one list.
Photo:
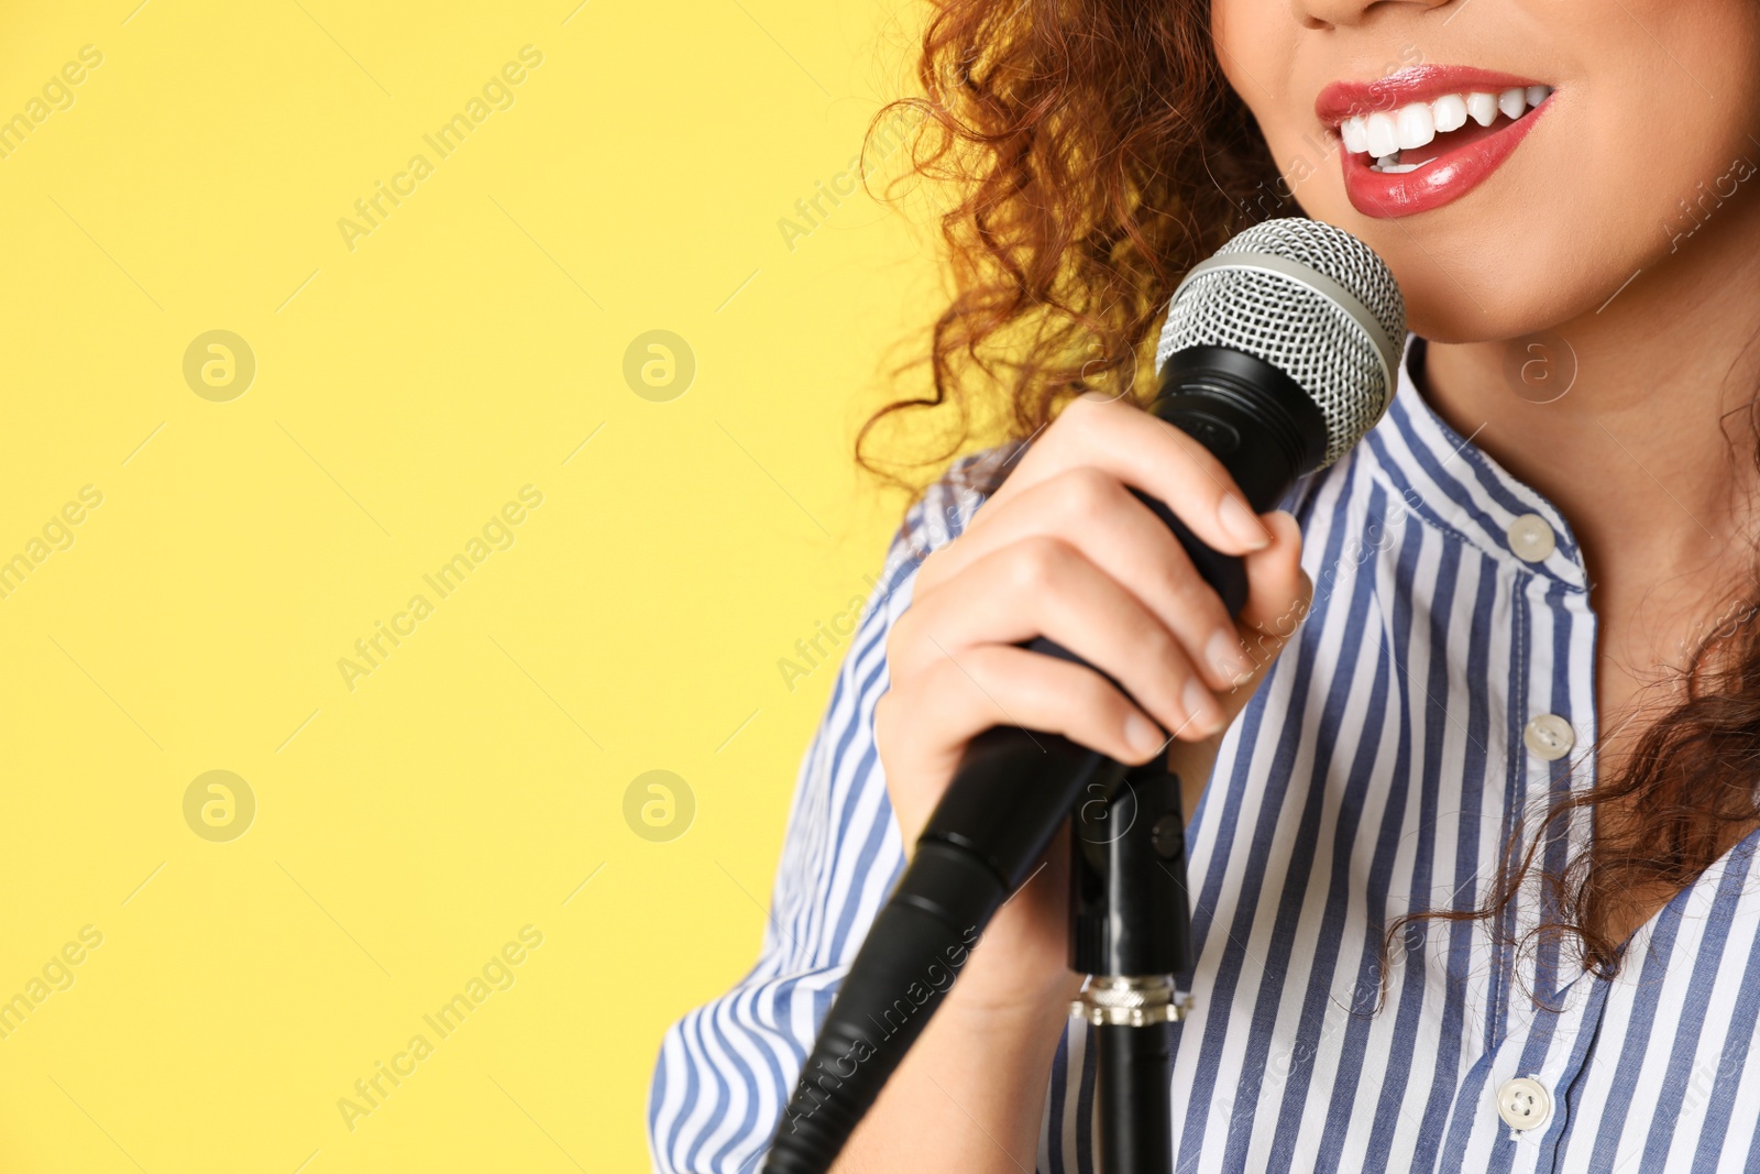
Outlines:
{"label": "woman's whole blue and white striped button-up shirt", "polygon": [[[903,868],[873,748],[885,634],[917,556],[979,503],[947,479],[915,510],[920,542],[894,544],[801,767],[762,958],[662,1046],[662,1170],[757,1167]],[[1376,1009],[1390,919],[1477,906],[1517,820],[1593,780],[1596,620],[1565,517],[1404,370],[1387,417],[1287,505],[1315,607],[1225,736],[1188,833],[1200,961],[1176,1028],[1177,1169],[1760,1170],[1760,834],[1642,926],[1612,980],[1505,949],[1484,922],[1419,922]],[[1544,857],[1559,866],[1588,833],[1588,817],[1554,827]],[[1503,931],[1538,910],[1529,885]],[[1091,1170],[1091,1097],[1072,1026],[1040,1170]],[[1512,1128],[1500,1102],[1522,1097],[1533,1116]]]}

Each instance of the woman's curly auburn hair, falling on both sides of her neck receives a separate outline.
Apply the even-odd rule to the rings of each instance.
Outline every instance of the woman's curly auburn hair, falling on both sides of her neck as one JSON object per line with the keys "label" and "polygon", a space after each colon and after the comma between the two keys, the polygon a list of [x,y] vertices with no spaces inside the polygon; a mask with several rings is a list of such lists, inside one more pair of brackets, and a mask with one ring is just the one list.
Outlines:
{"label": "woman's curly auburn hair, falling on both sides of her neck", "polygon": [[[1148,400],[1149,331],[1184,271],[1248,222],[1301,215],[1221,72],[1209,7],[933,0],[917,60],[922,95],[882,109],[869,136],[896,128],[901,114],[912,120],[905,180],[950,194],[940,231],[952,292],[915,361],[928,363],[933,391],[868,419],[855,442],[864,468],[910,484],[898,470],[933,477],[972,440],[980,414],[1017,445],[1084,391]],[[891,468],[871,459],[876,426],[938,408],[954,428],[936,451]],[[980,461],[968,477],[989,491],[1003,472],[1003,461]],[[1401,935],[1410,950],[1431,919],[1507,933],[1503,914],[1528,880],[1540,884],[1542,917],[1512,945],[1572,938],[1586,966],[1619,968],[1623,943],[1609,926],[1633,894],[1679,892],[1760,824],[1755,611],[1760,602],[1688,651],[1677,692],[1617,771],[1593,789],[1554,792],[1529,820],[1538,833],[1526,848],[1524,829],[1514,829],[1477,908],[1415,908],[1387,928],[1383,989]],[[1591,848],[1547,871],[1545,845],[1584,813],[1602,815]]]}

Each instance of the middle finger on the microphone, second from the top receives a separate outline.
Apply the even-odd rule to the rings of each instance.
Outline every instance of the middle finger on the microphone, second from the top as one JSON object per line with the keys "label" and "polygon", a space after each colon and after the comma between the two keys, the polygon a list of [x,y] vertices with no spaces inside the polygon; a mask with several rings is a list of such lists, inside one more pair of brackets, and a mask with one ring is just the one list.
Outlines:
{"label": "middle finger on the microphone, second from the top", "polygon": [[1230,688],[1255,669],[1221,598],[1179,540],[1118,479],[1070,468],[986,509],[984,526],[938,551],[928,588],[919,579],[917,604],[996,551],[1051,537],[1081,551],[1160,620],[1213,690]]}

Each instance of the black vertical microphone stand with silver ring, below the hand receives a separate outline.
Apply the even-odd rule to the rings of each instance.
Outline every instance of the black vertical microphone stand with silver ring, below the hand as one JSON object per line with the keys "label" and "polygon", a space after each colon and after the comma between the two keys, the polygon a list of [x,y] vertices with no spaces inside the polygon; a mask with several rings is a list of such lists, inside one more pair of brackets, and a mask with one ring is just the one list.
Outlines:
{"label": "black vertical microphone stand with silver ring, below the hand", "polygon": [[1095,1024],[1100,1174],[1172,1174],[1172,1023],[1190,996],[1192,908],[1179,778],[1162,759],[1091,783],[1070,815],[1070,1014]]}

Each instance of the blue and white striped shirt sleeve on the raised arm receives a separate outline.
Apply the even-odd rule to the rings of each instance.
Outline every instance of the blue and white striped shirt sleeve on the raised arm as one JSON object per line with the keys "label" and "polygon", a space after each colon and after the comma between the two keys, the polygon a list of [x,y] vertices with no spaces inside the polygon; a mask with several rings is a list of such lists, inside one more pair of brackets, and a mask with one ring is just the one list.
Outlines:
{"label": "blue and white striped shirt sleeve on the raised arm", "polygon": [[831,704],[796,781],[757,965],[662,1040],[648,1095],[648,1142],[667,1174],[750,1174],[767,1151],[820,1023],[905,866],[873,741],[887,690],[885,641],[910,605],[922,558],[957,537],[984,502],[973,470],[1017,447],[966,458],[905,516],[862,611]]}

